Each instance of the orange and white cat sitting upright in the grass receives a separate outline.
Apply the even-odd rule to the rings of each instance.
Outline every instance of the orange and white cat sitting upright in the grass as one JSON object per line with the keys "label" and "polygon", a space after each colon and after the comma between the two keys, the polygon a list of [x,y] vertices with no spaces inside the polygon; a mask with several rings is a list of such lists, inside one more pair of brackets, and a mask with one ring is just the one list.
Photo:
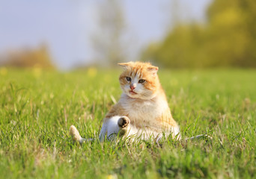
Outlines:
{"label": "orange and white cat sitting upright in the grass", "polygon": [[[180,139],[180,129],[171,116],[165,92],[159,82],[158,67],[150,63],[119,63],[124,68],[119,82],[123,94],[103,120],[100,141],[119,136],[158,141],[171,135]],[[70,126],[73,140],[84,142],[76,128]]]}

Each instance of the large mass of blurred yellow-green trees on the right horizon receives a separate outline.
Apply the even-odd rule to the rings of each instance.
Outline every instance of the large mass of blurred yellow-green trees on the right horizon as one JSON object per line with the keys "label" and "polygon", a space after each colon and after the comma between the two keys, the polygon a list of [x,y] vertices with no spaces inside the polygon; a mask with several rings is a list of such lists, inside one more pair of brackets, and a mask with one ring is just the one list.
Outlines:
{"label": "large mass of blurred yellow-green trees on the right horizon", "polygon": [[162,42],[148,45],[142,60],[168,67],[256,67],[256,1],[215,0],[205,25],[177,24]]}

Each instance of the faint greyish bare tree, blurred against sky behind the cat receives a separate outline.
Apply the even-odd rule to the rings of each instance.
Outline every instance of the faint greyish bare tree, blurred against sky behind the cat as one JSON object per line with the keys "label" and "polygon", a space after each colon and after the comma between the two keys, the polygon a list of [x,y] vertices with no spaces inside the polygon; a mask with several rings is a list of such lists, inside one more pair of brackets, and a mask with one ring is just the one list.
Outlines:
{"label": "faint greyish bare tree, blurred against sky behind the cat", "polygon": [[121,1],[102,1],[98,14],[99,31],[94,32],[92,37],[96,60],[102,65],[116,65],[125,60],[127,53],[126,25]]}

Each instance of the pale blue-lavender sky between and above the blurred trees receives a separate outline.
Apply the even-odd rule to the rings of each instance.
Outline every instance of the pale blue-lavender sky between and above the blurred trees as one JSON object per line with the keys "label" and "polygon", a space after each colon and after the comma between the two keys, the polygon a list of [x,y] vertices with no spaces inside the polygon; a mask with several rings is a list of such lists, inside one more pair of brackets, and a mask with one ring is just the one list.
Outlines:
{"label": "pale blue-lavender sky between and above the blurred trees", "polygon": [[[0,54],[10,49],[49,45],[59,69],[92,63],[91,34],[103,0],[0,0]],[[203,22],[212,0],[179,0],[179,16]],[[135,43],[133,57],[151,41],[165,37],[171,26],[170,0],[121,1],[127,34]],[[134,60],[134,59],[131,59]]]}

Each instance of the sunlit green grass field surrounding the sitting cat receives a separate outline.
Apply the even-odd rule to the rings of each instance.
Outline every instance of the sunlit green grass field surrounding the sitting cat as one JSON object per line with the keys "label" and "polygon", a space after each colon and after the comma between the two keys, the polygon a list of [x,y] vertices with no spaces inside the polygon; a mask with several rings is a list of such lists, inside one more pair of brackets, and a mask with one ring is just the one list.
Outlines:
{"label": "sunlit green grass field surrounding the sitting cat", "polygon": [[160,70],[183,138],[212,140],[73,145],[121,95],[118,71],[94,73],[1,70],[0,178],[256,178],[255,70]]}

